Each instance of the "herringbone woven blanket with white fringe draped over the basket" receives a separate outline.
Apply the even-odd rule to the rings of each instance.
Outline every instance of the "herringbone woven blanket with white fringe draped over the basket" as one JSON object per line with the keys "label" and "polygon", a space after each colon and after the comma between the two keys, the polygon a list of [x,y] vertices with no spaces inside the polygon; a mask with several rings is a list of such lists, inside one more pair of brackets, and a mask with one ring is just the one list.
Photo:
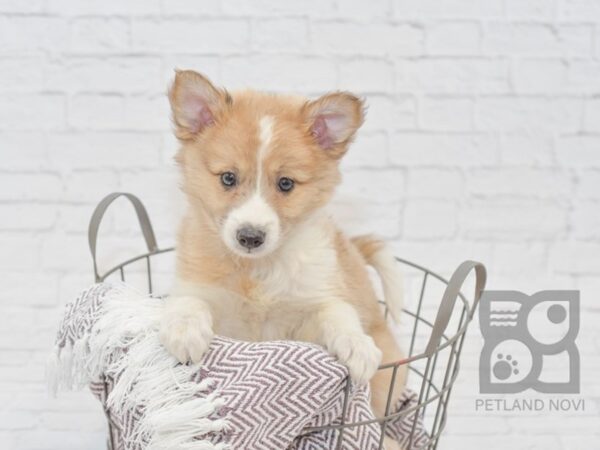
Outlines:
{"label": "herringbone woven blanket with white fringe draped over the basket", "polygon": [[[225,450],[379,446],[366,386],[346,394],[347,370],[319,346],[216,337],[199,364],[179,364],[161,346],[160,298],[124,284],[96,284],[66,308],[48,364],[50,389],[91,386],[112,426],[115,450]],[[397,408],[414,406],[407,391]],[[343,405],[347,411],[342,414]],[[386,434],[407,448],[413,417]],[[417,421],[413,448],[427,442]]]}

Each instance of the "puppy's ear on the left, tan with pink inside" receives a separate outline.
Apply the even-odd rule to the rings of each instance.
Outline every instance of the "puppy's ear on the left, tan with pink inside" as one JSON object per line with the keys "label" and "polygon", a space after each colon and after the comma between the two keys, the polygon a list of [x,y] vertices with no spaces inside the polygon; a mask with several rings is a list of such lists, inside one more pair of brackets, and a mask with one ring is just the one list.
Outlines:
{"label": "puppy's ear on the left, tan with pink inside", "polygon": [[169,89],[175,136],[185,141],[215,123],[230,97],[203,75],[193,70],[177,70]]}

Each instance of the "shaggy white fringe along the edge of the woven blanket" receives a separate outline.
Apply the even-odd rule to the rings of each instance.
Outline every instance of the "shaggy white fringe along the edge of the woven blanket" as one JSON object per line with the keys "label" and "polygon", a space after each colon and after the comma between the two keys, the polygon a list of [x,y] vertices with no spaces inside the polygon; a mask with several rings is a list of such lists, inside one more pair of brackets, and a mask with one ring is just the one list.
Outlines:
{"label": "shaggy white fringe along the edge of the woven blanket", "polygon": [[210,378],[194,381],[199,365],[179,364],[160,344],[162,304],[124,284],[111,286],[86,317],[91,329],[54,348],[46,366],[48,389],[56,395],[105,375],[114,380],[111,413],[122,416],[145,405],[128,436],[132,448],[226,450],[226,443],[199,439],[226,430],[226,419],[213,416],[223,400],[210,392]]}

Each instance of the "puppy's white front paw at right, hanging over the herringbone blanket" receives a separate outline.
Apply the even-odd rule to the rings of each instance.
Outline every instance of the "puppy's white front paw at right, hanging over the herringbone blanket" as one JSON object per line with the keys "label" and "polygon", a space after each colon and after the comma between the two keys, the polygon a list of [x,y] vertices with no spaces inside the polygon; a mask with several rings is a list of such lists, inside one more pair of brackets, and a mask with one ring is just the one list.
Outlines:
{"label": "puppy's white front paw at right, hanging over the herringbone blanket", "polygon": [[328,347],[330,353],[348,367],[350,378],[358,384],[367,383],[381,363],[381,350],[373,338],[364,333],[340,334]]}

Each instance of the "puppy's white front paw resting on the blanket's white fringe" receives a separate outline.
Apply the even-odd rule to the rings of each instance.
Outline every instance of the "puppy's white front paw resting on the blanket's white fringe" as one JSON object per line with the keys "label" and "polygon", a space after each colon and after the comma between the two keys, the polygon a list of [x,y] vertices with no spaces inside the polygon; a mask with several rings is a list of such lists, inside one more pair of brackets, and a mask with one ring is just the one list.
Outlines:
{"label": "puppy's white front paw resting on the blanket's white fringe", "polygon": [[167,312],[160,324],[160,341],[180,362],[199,362],[214,336],[208,311]]}

